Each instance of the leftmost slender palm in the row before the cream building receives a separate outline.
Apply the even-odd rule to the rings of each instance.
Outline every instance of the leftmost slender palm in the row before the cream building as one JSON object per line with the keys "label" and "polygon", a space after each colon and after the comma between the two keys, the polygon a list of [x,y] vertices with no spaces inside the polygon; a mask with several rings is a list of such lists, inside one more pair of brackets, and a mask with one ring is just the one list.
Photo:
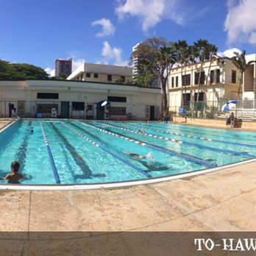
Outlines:
{"label": "leftmost slender palm in the row before the cream building", "polygon": [[[174,43],[174,49],[177,54],[177,62],[181,65],[181,78],[183,77],[183,65],[187,62],[188,60],[188,43],[186,40],[178,40],[178,42]],[[182,93],[181,93],[181,105],[182,108],[184,108],[184,102],[183,102],[183,87],[186,85],[183,84],[183,79],[182,79]]]}

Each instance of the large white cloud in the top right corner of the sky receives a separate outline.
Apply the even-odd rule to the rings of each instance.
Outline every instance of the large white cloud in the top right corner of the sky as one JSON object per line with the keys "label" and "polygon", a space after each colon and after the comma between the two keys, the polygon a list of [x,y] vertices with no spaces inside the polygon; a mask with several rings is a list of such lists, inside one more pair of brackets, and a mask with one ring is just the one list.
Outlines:
{"label": "large white cloud in the top right corner of the sky", "polygon": [[227,18],[224,29],[227,31],[227,43],[256,44],[256,1],[255,0],[228,0]]}

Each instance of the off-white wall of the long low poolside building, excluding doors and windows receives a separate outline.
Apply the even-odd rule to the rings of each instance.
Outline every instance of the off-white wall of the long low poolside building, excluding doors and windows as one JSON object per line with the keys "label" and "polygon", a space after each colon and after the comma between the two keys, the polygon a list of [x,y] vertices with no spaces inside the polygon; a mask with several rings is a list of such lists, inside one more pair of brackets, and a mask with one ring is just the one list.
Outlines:
{"label": "off-white wall of the long low poolside building, excluding doors and windows", "polygon": [[[58,104],[58,115],[61,115],[61,102],[85,102],[85,106],[107,99],[107,96],[126,96],[127,102],[113,102],[113,107],[126,107],[127,113],[132,113],[136,119],[145,118],[145,107],[156,106],[160,109],[160,89],[138,88],[136,86],[99,84],[90,82],[69,82],[57,80],[28,80],[4,82],[0,81],[0,115],[5,117],[8,108],[5,104],[25,102],[25,115],[35,116],[38,103]],[[38,99],[38,93],[59,93],[59,99]],[[72,110],[71,110],[72,111]],[[86,113],[86,112],[85,112]],[[80,113],[76,114],[81,117]],[[45,115],[49,117],[50,114]],[[79,116],[78,116],[79,115]],[[84,117],[84,116],[83,116]],[[96,118],[96,111],[94,111]]]}

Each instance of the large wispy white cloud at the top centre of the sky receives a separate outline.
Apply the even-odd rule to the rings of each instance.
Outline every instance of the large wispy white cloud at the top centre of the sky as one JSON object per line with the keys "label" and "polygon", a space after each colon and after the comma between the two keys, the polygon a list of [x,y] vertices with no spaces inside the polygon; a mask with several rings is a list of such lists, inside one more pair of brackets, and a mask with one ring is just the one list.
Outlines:
{"label": "large wispy white cloud at the top centre of the sky", "polygon": [[177,12],[177,0],[119,0],[115,8],[118,18],[127,16],[139,18],[143,32],[147,32],[163,18],[171,18],[177,24],[183,24],[182,14]]}

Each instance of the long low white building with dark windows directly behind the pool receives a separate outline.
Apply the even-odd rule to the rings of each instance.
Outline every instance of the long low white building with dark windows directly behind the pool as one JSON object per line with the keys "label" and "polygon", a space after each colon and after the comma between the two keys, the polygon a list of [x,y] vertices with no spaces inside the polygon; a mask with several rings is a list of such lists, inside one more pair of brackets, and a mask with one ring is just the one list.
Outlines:
{"label": "long low white building with dark windows directly behind the pool", "polygon": [[102,119],[107,109],[99,102],[106,99],[110,119],[154,120],[160,115],[160,89],[63,80],[0,81],[0,117],[8,117],[13,104],[21,117],[40,113],[49,118],[54,107],[59,118]]}

